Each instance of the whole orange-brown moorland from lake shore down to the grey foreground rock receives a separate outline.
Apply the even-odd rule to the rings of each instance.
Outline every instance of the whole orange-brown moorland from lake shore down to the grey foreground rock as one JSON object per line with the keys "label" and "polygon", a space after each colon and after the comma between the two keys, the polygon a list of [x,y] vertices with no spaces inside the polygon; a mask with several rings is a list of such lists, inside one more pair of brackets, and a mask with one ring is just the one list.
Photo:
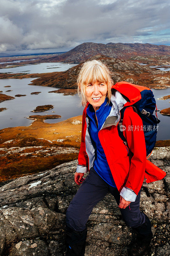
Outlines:
{"label": "whole orange-brown moorland from lake shore down to the grey foreground rock", "polygon": [[[29,116],[30,126],[0,130],[0,181],[51,169],[78,158],[82,116],[48,124],[44,119],[57,115]],[[157,141],[156,147],[170,146],[170,140]]]}

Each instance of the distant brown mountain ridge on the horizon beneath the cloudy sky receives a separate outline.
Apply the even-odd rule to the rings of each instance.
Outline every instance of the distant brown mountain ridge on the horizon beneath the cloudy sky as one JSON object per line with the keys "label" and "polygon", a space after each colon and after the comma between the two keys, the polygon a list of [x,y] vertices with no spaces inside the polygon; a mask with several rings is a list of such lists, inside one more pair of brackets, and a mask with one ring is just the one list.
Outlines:
{"label": "distant brown mountain ridge on the horizon beneath the cloudy sky", "polygon": [[165,55],[170,53],[168,45],[123,44],[123,43],[83,43],[59,56],[49,58],[52,62],[80,63],[94,55],[105,55],[110,58],[129,59],[132,56]]}

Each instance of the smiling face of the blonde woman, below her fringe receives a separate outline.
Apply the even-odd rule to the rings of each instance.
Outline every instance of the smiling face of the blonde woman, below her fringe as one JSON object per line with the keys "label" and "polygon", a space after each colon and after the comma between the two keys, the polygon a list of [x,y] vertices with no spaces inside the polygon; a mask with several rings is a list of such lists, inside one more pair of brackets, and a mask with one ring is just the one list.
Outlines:
{"label": "smiling face of the blonde woman, below her fringe", "polygon": [[93,106],[94,110],[98,110],[105,101],[107,94],[107,84],[105,82],[95,82],[85,86],[85,95],[87,101]]}

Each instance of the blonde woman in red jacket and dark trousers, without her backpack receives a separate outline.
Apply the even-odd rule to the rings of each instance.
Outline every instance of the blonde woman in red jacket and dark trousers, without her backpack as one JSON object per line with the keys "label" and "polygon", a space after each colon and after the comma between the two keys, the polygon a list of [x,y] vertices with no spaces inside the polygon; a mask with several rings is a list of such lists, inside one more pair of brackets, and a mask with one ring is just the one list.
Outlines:
{"label": "blonde woman in red jacket and dark trousers, without her backpack", "polygon": [[[143,255],[153,236],[150,220],[139,210],[144,172],[149,164],[146,164],[143,130],[128,129],[129,126],[143,126],[142,119],[132,107],[126,108],[122,124],[129,152],[117,129],[120,110],[127,103],[127,98],[114,89],[111,73],[101,61],[83,64],[78,76],[78,92],[82,105],[86,105],[75,173],[75,182],[81,186],[66,212],[65,255],[84,255],[86,222],[93,207],[108,192],[115,197],[125,223],[137,233],[137,243],[132,245],[129,255]],[[83,175],[88,170],[84,180]]]}

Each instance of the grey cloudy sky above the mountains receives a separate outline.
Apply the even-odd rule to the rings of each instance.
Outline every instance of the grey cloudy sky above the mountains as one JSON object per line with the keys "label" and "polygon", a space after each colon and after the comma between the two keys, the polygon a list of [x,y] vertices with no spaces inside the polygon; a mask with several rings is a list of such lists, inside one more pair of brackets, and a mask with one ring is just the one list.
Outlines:
{"label": "grey cloudy sky above the mountains", "polygon": [[168,0],[0,0],[0,52],[94,42],[170,45]]}

